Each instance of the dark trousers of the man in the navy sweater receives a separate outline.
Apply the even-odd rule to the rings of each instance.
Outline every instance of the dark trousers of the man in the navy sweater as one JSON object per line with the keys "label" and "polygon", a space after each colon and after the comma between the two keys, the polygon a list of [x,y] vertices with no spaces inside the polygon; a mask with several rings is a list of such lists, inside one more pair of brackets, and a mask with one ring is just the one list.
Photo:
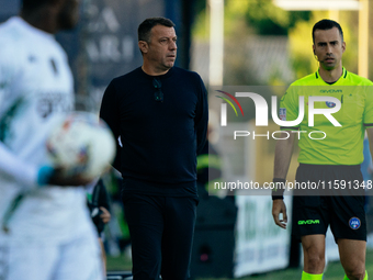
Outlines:
{"label": "dark trousers of the man in the navy sweater", "polygon": [[123,193],[123,204],[134,280],[188,279],[197,201]]}

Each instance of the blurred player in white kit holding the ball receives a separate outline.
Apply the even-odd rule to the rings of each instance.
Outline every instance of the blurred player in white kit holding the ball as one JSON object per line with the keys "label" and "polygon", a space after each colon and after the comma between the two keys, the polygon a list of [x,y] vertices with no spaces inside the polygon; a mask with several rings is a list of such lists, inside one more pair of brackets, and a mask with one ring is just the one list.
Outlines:
{"label": "blurred player in white kit holding the ball", "polygon": [[88,181],[64,178],[45,147],[54,120],[74,108],[72,75],[53,34],[75,26],[79,1],[22,2],[20,16],[0,25],[0,280],[102,280],[78,187]]}

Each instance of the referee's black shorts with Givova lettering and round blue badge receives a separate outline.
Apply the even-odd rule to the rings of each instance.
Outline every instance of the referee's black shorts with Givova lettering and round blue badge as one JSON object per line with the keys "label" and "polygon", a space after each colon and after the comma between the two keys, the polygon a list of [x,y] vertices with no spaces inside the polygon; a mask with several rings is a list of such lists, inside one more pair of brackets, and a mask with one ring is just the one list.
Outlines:
{"label": "referee's black shorts with Givova lettering and round blue badge", "polygon": [[[314,182],[314,186],[318,184],[318,189],[294,190],[292,219],[294,237],[301,239],[305,235],[326,235],[330,225],[336,243],[338,238],[366,240],[364,189],[353,188],[358,183],[361,186],[363,181],[360,165],[301,164],[295,180],[297,183],[308,183],[304,186]],[[341,184],[346,186],[342,191]]]}

